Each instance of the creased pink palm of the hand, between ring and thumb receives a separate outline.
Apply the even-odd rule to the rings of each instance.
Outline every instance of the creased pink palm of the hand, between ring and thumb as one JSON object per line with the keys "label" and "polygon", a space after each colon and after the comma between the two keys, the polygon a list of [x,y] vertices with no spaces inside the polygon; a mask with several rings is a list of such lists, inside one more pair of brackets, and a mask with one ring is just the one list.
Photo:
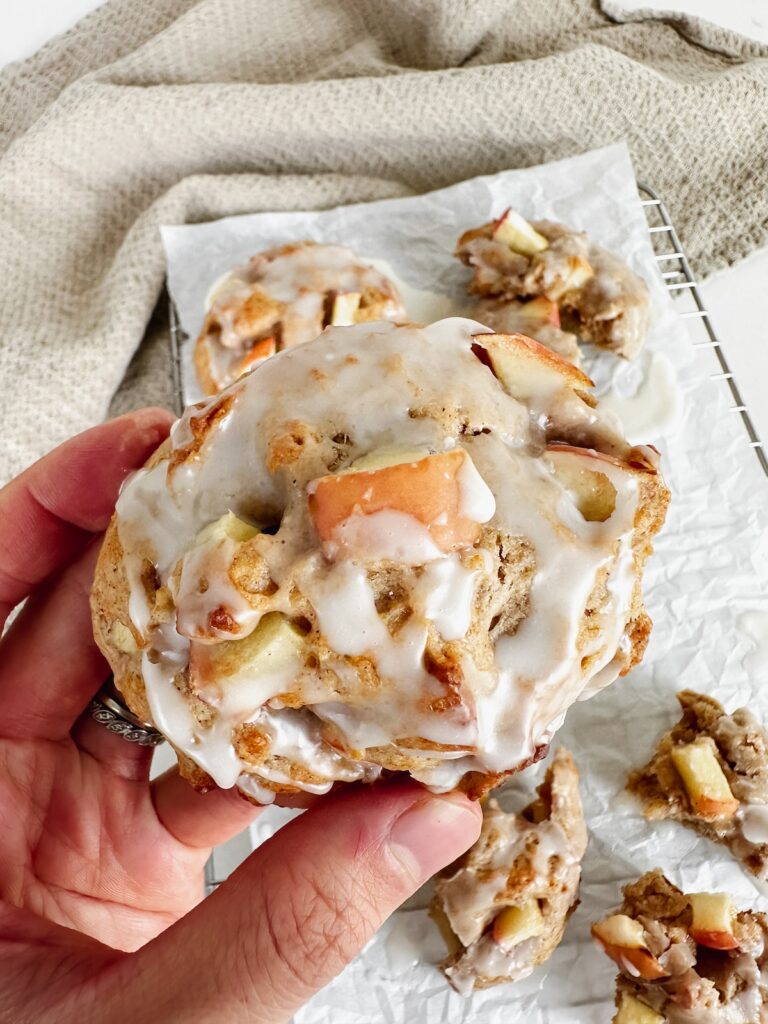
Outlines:
{"label": "creased pink palm of the hand, between ring and thumb", "polygon": [[0,740],[0,896],[48,921],[135,949],[202,896],[207,850],[168,833],[144,779],[70,739]]}

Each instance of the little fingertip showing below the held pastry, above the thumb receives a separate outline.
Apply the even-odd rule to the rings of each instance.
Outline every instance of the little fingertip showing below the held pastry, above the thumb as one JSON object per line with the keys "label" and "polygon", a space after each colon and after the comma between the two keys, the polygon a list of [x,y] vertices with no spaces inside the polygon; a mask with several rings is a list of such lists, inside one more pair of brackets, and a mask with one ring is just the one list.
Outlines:
{"label": "little fingertip showing below the held pastry, above the thumb", "polygon": [[168,831],[185,846],[211,847],[247,828],[263,810],[237,790],[198,793],[171,768],[152,784],[155,812]]}

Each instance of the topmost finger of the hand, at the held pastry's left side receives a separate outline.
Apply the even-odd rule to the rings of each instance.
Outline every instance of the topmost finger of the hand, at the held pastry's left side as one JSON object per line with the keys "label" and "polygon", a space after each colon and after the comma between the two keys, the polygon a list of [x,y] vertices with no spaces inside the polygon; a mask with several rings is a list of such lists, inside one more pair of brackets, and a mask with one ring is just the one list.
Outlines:
{"label": "topmost finger of the hand, at the held pastry's left side", "polygon": [[0,490],[0,627],[34,588],[106,527],[120,484],[168,434],[144,409],[73,437]]}

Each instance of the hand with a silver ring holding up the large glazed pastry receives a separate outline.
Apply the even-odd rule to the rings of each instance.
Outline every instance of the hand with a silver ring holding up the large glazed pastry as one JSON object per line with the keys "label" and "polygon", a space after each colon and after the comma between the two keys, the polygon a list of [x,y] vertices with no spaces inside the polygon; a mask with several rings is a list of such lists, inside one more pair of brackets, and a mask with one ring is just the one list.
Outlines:
{"label": "hand with a silver ring holding up the large glazed pastry", "polygon": [[258,809],[151,783],[145,748],[83,717],[109,674],[100,532],[169,425],[122,417],[0,490],[0,622],[26,599],[0,641],[0,1021],[285,1021],[479,831],[458,794],[347,788],[200,902],[211,846]]}

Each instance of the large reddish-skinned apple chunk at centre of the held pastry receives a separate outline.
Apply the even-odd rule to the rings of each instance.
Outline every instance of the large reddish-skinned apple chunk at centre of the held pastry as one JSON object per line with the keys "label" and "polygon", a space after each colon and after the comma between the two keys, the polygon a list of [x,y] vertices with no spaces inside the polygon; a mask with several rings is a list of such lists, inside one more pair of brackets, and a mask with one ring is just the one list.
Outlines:
{"label": "large reddish-skinned apple chunk at centre of the held pastry", "polygon": [[[333,541],[337,527],[350,516],[389,510],[426,526],[440,550],[457,551],[476,543],[480,521],[485,521],[467,514],[475,511],[468,505],[476,504],[465,493],[473,482],[469,474],[477,476],[463,449],[436,455],[387,449],[356,467],[313,480],[307,488],[309,511],[324,543]],[[479,484],[485,487],[481,479]]]}

